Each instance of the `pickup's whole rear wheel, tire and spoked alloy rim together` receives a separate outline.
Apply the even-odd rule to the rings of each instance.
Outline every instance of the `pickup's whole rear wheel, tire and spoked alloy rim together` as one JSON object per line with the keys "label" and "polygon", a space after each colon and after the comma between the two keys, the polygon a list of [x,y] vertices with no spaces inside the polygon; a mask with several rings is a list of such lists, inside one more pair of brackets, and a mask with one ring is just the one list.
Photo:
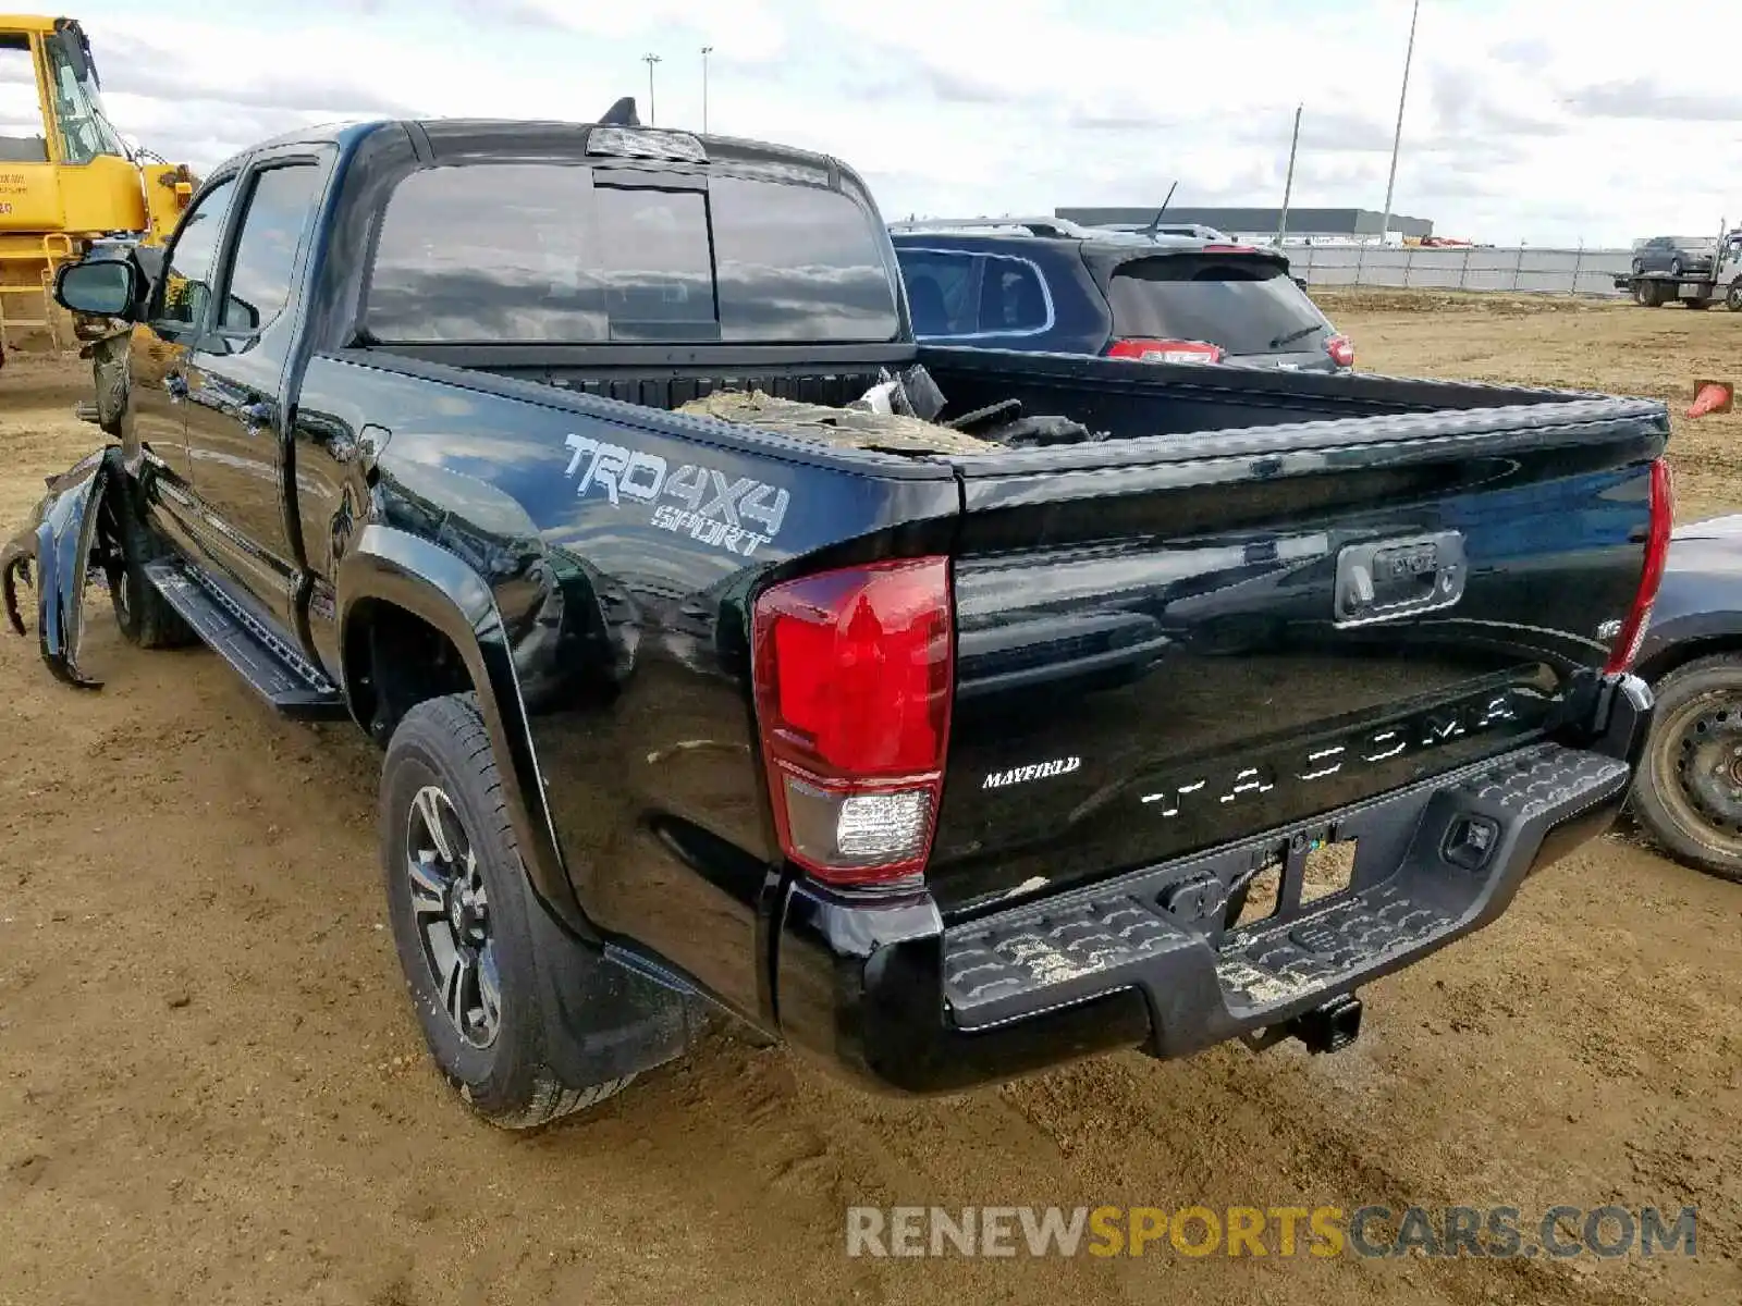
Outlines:
{"label": "pickup's whole rear wheel, tire and spoked alloy rim together", "polygon": [[526,871],[474,695],[430,698],[381,764],[387,914],[436,1064],[493,1125],[530,1128],[603,1102],[624,1076],[563,1083],[550,1069]]}

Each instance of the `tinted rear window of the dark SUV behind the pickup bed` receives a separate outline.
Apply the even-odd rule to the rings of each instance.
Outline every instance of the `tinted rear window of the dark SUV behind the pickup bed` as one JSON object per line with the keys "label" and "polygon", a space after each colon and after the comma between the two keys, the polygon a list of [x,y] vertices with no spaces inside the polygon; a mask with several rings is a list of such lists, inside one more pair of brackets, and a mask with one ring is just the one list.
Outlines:
{"label": "tinted rear window of the dark SUV behind the pickup bed", "polygon": [[1113,334],[1204,340],[1228,353],[1294,353],[1324,345],[1331,326],[1268,259],[1171,254],[1120,263],[1108,286]]}

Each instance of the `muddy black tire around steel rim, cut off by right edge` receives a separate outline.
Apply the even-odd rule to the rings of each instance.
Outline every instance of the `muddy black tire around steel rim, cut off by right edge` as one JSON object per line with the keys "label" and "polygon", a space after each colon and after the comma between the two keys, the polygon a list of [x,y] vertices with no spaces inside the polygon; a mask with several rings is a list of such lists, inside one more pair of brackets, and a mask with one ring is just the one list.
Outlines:
{"label": "muddy black tire around steel rim, cut off by right edge", "polygon": [[[1651,686],[1657,714],[1629,804],[1657,845],[1678,862],[1742,883],[1742,831],[1721,829],[1685,792],[1683,740],[1695,714],[1735,712],[1742,721],[1742,656],[1698,658]],[[1726,702],[1732,705],[1726,709]]]}

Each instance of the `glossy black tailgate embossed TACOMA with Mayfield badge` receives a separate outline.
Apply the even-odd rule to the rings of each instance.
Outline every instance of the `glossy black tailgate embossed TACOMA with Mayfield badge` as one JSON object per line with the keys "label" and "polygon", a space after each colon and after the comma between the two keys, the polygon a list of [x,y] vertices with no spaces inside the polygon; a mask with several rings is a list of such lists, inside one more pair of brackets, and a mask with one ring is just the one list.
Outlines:
{"label": "glossy black tailgate embossed TACOMA with Mayfield badge", "polygon": [[1658,404],[956,460],[948,916],[1552,737],[1639,589]]}

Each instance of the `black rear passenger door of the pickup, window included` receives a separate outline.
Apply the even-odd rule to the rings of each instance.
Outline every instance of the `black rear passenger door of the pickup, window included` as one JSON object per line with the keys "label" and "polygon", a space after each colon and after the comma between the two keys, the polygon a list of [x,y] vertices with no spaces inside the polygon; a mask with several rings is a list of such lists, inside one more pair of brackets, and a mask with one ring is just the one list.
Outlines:
{"label": "black rear passenger door of the pickup, window included", "polygon": [[286,629],[294,625],[300,568],[286,515],[289,427],[280,395],[296,331],[296,270],[324,181],[321,153],[254,160],[242,179],[240,223],[232,223],[211,326],[186,362],[200,545]]}

